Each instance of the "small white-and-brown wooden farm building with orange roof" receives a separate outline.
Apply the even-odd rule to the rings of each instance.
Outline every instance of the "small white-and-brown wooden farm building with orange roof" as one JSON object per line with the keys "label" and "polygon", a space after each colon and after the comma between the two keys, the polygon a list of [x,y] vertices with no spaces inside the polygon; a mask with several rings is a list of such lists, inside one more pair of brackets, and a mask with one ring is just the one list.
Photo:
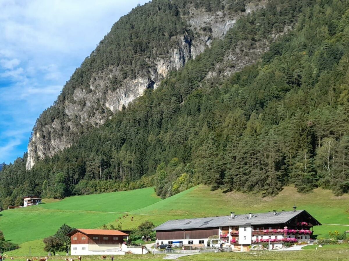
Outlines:
{"label": "small white-and-brown wooden farm building with orange roof", "polygon": [[128,234],[119,230],[75,229],[68,234],[72,255],[125,254],[122,251]]}

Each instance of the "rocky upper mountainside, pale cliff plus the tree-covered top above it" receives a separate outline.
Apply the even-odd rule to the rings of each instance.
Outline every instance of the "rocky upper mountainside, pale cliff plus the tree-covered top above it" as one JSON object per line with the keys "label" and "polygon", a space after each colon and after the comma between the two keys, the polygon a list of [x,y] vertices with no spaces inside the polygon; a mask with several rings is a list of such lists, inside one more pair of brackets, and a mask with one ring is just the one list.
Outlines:
{"label": "rocky upper mountainside, pale cliff plus the tree-covered top above it", "polygon": [[[70,147],[87,129],[103,125],[147,89],[156,89],[169,72],[223,38],[240,17],[265,5],[266,1],[244,5],[233,0],[154,0],[134,8],[113,25],[57,101],[38,118],[28,145],[27,169],[37,158]],[[245,56],[238,66],[257,57]]]}

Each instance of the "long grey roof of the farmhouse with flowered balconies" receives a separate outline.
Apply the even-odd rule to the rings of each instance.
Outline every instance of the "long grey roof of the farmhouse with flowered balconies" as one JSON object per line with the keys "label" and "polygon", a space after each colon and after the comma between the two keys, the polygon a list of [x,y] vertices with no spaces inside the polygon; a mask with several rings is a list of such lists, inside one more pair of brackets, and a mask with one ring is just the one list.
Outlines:
{"label": "long grey roof of the farmhouse with flowered balconies", "polygon": [[[194,228],[213,228],[222,226],[243,226],[243,225],[263,225],[263,224],[283,224],[302,213],[304,210],[297,211],[282,211],[267,213],[250,214],[230,216],[214,216],[214,217],[200,217],[195,219],[177,219],[169,220],[153,230],[171,230],[171,229],[194,229]],[[309,215],[306,211],[306,214]],[[313,218],[313,217],[312,217]],[[315,223],[320,224],[317,220]]]}

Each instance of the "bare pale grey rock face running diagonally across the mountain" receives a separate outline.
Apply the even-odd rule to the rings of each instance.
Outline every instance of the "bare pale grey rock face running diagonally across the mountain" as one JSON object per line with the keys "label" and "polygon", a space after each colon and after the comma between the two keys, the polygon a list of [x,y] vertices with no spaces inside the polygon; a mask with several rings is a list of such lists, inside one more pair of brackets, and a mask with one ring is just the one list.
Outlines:
{"label": "bare pale grey rock face running diagonally across the mountain", "polygon": [[[121,73],[122,65],[93,72],[88,88],[76,87],[72,98],[63,99],[59,104],[53,105],[51,110],[60,111],[60,114],[64,114],[63,117],[54,118],[34,128],[28,145],[27,169],[31,169],[37,159],[52,157],[68,148],[83,130],[104,124],[113,113],[143,95],[145,90],[156,89],[170,71],[178,70],[188,60],[195,59],[214,39],[223,38],[239,17],[264,5],[264,1],[252,2],[245,7],[246,11],[239,12],[209,12],[189,8],[189,12],[181,15],[187,23],[186,33],[170,39],[165,55],[155,59],[146,58],[146,64],[136,77],[124,79]],[[193,32],[191,37],[188,35],[190,31]],[[263,51],[264,46],[260,48],[260,52]],[[236,53],[227,54],[225,60],[235,63],[237,69],[255,61],[255,58],[241,60],[241,57]],[[253,57],[258,55],[253,54]],[[215,73],[210,72],[208,77]]]}

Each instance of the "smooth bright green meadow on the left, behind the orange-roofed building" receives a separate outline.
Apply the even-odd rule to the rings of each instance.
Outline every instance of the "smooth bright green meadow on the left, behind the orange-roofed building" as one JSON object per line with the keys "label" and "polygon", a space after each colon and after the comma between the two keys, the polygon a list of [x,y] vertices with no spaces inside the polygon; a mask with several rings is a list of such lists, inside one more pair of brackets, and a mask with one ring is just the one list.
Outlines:
{"label": "smooth bright green meadow on the left, behind the orange-roofed building", "polygon": [[161,200],[153,188],[70,197],[0,214],[0,230],[6,240],[24,243],[53,235],[66,223],[76,228],[96,228],[124,214]]}

